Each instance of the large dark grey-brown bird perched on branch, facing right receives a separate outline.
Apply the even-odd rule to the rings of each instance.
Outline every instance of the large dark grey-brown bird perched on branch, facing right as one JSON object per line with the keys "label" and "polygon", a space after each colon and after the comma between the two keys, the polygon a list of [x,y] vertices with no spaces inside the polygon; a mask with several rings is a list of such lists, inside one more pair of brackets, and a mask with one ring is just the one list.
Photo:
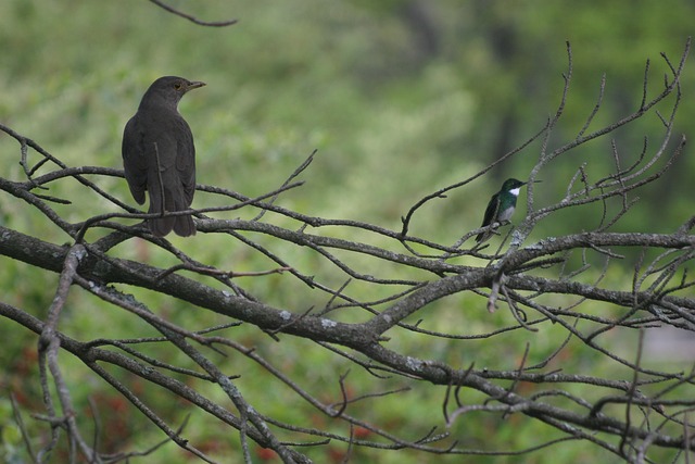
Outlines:
{"label": "large dark grey-brown bird perched on branch, facing right", "polygon": [[[156,79],[142,96],[135,116],[123,131],[123,166],[132,198],[144,203],[148,213],[188,210],[195,193],[195,147],[188,123],[178,112],[178,102],[189,90],[205,83],[182,77]],[[164,237],[172,230],[188,237],[195,234],[190,215],[148,220],[153,235]]]}

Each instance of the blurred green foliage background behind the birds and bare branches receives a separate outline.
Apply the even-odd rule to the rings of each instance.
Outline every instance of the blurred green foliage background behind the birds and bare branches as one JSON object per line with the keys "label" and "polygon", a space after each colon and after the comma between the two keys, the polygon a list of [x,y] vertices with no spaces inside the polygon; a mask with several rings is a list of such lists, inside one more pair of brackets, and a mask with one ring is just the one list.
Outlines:
{"label": "blurred green foliage background behind the birds and bare branches", "polygon": [[[233,189],[250,197],[262,195],[279,187],[312,150],[318,149],[316,160],[301,176],[306,184],[285,193],[280,204],[313,216],[352,218],[392,229],[400,229],[400,217],[419,198],[473,175],[545,124],[555,112],[563,90],[566,40],[572,45],[573,79],[565,116],[551,140],[551,148],[571,140],[581,128],[596,102],[604,73],[607,79],[604,104],[590,130],[615,122],[639,106],[647,59],[652,60],[649,95],[660,91],[668,68],[659,53],[664,51],[678,62],[692,34],[695,13],[695,3],[684,0],[544,4],[513,0],[172,0],[168,3],[201,20],[238,18],[239,23],[223,28],[201,27],[144,0],[3,0],[0,3],[0,88],[3,89],[0,122],[33,138],[68,165],[119,168],[123,126],[150,83],[168,74],[204,80],[207,87],[187,96],[179,106],[195,137],[200,184]],[[691,126],[695,124],[694,100],[690,98],[695,78],[690,67],[682,80],[686,98],[680,108],[678,134],[692,134]],[[653,153],[662,140],[662,133],[656,115],[648,115],[628,129],[561,156],[539,176],[544,183],[535,187],[536,208],[559,201],[582,163],[586,163],[586,172],[593,179],[611,172],[611,139],[620,150],[622,164],[629,165],[640,155],[643,137],[648,137],[648,150]],[[539,150],[539,143],[531,145],[489,175],[454,190],[446,199],[428,203],[415,215],[412,234],[450,244],[478,227],[490,195],[506,177],[525,179],[538,160]],[[0,152],[4,160],[0,167],[2,177],[23,180],[16,141],[0,135]],[[661,233],[678,227],[693,214],[694,170],[695,161],[688,155],[682,156],[665,180],[641,190],[640,203],[616,230]],[[94,180],[135,205],[123,179]],[[80,189],[77,183],[64,183],[52,187],[51,193],[76,199],[84,191]],[[522,196],[521,205],[523,199]],[[222,204],[218,198],[199,192],[193,206],[217,204]],[[96,198],[79,206],[56,206],[56,211],[75,222],[100,212],[117,211]],[[250,218],[255,213],[240,211],[217,216]],[[67,239],[41,215],[27,211],[24,203],[14,199],[1,200],[0,222],[56,242]],[[286,225],[285,220],[277,217],[271,222]],[[576,233],[595,225],[597,213],[593,206],[576,210],[561,221],[545,220],[534,229],[531,239]],[[271,267],[248,248],[230,246],[229,241],[212,241],[204,235],[189,241],[178,238],[173,241],[185,244],[186,251],[200,261],[225,268]],[[129,243],[117,252],[155,264],[172,264],[170,259],[160,256],[142,243],[135,247]],[[298,265],[304,264],[307,269],[315,265],[301,250],[286,252],[296,253],[293,256]],[[630,265],[628,263],[628,267]],[[38,316],[45,314],[52,299],[52,290],[47,289],[53,288],[51,284],[56,276],[37,273],[3,256],[0,256],[0,274],[3,275],[0,293],[8,296],[5,301]],[[340,285],[341,278],[334,285]],[[620,274],[610,278],[618,287],[630,285],[629,274],[624,283]],[[249,279],[241,285],[260,298],[296,312],[314,303],[285,291],[279,277]],[[157,296],[143,293],[138,298],[165,314],[176,313],[172,317],[187,327],[186,324],[202,328],[222,322],[208,314],[181,315],[181,311],[190,309]],[[324,298],[325,303],[325,296],[316,298],[317,301]],[[132,337],[134,333],[143,336],[141,323],[127,315],[111,310],[94,314],[101,310],[86,311],[84,306],[88,304],[86,301],[94,304],[94,300],[79,293],[74,300],[63,324],[74,336],[105,337],[102,329],[113,337]],[[442,324],[440,329],[459,324],[465,325],[466,333],[484,333],[511,324],[506,318],[508,313],[494,319],[482,312],[476,312],[479,318],[471,314],[464,317],[464,297],[447,304],[448,311],[442,308],[442,318],[434,323]],[[274,344],[253,329],[243,330],[233,334],[245,334],[250,346],[258,346],[264,354],[304,376],[308,385],[330,384],[332,389],[330,394],[326,393],[326,401],[339,398],[334,385],[337,373],[344,372],[348,363],[308,342],[285,339]],[[0,377],[0,426],[5,455],[21,460],[22,447],[16,434],[12,435],[5,393],[21,392],[26,397],[23,405],[27,411],[40,411],[37,391],[31,391],[37,386],[27,380],[36,371],[31,358],[35,338],[29,334],[13,334],[10,338],[8,335],[15,333],[11,324],[0,325],[0,331],[4,340],[11,340],[0,354],[4,366]],[[522,352],[519,347],[528,340],[533,340],[532,356],[541,360],[558,346],[558,337],[561,340],[563,336],[553,328],[542,335],[510,335],[510,346],[495,338],[486,344],[471,344],[475,355],[462,353],[462,344],[469,349],[466,343],[407,335],[394,342],[418,343],[417,349],[410,350],[416,355],[426,352],[428,356],[442,356],[450,362],[460,358],[466,366],[476,360],[477,366],[491,363],[494,368],[514,368]],[[597,364],[595,355],[584,353],[579,344],[570,343],[567,350],[568,358],[573,359],[574,372],[584,372],[585,367],[598,372],[610,368]],[[71,360],[63,358],[70,365]],[[266,401],[265,397],[253,398],[261,393],[254,390],[261,371],[247,360],[235,359],[230,363],[249,379],[249,390],[244,393],[250,400]],[[313,371],[316,363],[325,365],[325,371]],[[118,415],[118,407],[130,410],[119,403],[123,400],[114,391],[93,380],[78,365],[71,368],[75,378],[89,379],[77,387],[81,388],[75,394],[80,404],[86,404],[87,396],[97,397],[104,404],[118,403],[117,407],[110,407],[114,416],[109,421],[123,423],[122,429],[114,427],[121,435],[114,431],[109,447],[141,449],[162,439],[141,417],[125,412]],[[254,369],[258,375],[255,379]],[[369,386],[368,378],[356,377],[362,373],[353,375],[356,386],[363,383]],[[243,385],[244,380],[240,381]],[[402,386],[397,380],[392,384]],[[413,390],[408,393],[412,407],[407,410],[396,407],[400,402],[392,404],[383,400],[365,411],[370,411],[375,422],[387,429],[417,423],[421,415],[432,418],[432,422],[425,421],[429,426],[441,418],[432,411],[439,414],[443,390],[437,391],[438,398],[425,398],[433,391]],[[286,415],[287,421],[309,417],[315,426],[330,423],[306,405],[295,404],[298,399],[289,392],[277,394],[279,399],[267,404],[264,413]],[[469,394],[475,401],[476,394]],[[161,410],[168,419],[181,419],[178,404],[169,405],[167,413],[164,400],[152,401],[162,401]],[[462,446],[470,448],[514,450],[533,446],[539,436],[548,432],[516,416],[506,422],[498,417],[471,417],[479,422],[469,418],[471,422],[466,421],[453,430],[455,436],[460,434]],[[237,455],[235,434],[226,430],[220,436],[218,424],[207,421],[204,415],[193,415],[189,437],[197,446],[206,444],[205,451],[212,455]],[[428,426],[409,432],[401,430],[401,434],[415,439],[425,435]],[[38,436],[40,428],[33,424],[31,430]],[[344,426],[338,431],[346,432]],[[312,456],[316,462],[333,459],[339,462],[344,449],[336,444],[309,453],[315,453]],[[555,447],[552,456],[549,454],[539,451],[525,456],[525,462],[612,457],[586,444],[571,442]],[[185,456],[186,453],[168,444],[146,461],[179,462]],[[460,460],[404,451],[358,450],[354,462],[415,463],[428,457],[432,462]],[[260,450],[257,459],[265,459]],[[513,456],[508,461],[497,457],[476,462],[518,460]]]}

